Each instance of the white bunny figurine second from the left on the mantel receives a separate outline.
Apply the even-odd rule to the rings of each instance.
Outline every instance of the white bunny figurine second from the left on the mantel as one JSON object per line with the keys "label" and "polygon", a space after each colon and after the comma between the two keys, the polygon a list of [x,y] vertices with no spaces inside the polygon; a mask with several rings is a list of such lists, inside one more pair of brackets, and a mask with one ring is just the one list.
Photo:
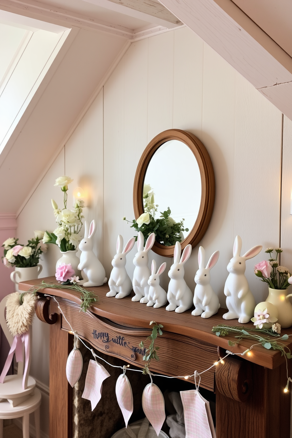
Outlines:
{"label": "white bunny figurine second from the left on the mantel", "polygon": [[126,271],[126,255],[134,247],[135,237],[127,242],[123,250],[123,237],[119,234],[116,241],[116,255],[113,258],[113,269],[109,277],[109,292],[107,297],[124,298],[130,295],[132,282]]}

